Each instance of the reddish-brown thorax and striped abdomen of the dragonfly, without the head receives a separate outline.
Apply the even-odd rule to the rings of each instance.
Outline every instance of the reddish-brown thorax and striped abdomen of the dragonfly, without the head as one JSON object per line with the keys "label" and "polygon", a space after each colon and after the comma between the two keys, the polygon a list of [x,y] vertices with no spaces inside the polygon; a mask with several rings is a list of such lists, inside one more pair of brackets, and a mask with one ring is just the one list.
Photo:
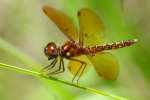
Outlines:
{"label": "reddish-brown thorax and striped abdomen of the dragonfly, without the head", "polygon": [[82,54],[95,54],[104,50],[118,49],[134,44],[137,40],[122,40],[118,42],[95,45],[95,46],[82,46],[78,42],[67,41],[60,49],[60,56],[70,58],[74,56],[80,56]]}

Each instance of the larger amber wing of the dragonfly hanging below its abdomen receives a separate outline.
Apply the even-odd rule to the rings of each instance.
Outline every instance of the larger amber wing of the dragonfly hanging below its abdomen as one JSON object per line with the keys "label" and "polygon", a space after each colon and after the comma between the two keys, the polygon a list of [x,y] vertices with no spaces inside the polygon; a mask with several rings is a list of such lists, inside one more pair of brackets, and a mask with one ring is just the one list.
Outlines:
{"label": "larger amber wing of the dragonfly hanging below its abdomen", "polygon": [[115,80],[118,76],[118,62],[111,53],[100,52],[94,56],[88,55],[96,72],[105,80]]}

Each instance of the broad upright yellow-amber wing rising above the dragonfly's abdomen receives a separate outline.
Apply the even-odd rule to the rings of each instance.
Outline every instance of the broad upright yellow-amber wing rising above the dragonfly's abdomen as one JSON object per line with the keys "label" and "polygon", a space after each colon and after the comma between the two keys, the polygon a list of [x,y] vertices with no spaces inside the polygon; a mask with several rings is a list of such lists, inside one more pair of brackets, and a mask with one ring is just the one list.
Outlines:
{"label": "broad upright yellow-amber wing rising above the dragonfly's abdomen", "polygon": [[104,39],[104,25],[100,18],[85,8],[78,12],[80,34],[79,41],[86,46],[101,44]]}

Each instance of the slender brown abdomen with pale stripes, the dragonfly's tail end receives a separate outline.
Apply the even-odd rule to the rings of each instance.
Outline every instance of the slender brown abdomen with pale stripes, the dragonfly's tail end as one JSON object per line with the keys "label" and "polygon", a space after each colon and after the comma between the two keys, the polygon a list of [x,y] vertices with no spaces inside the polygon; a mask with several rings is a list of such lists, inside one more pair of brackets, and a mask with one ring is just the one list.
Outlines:
{"label": "slender brown abdomen with pale stripes, the dragonfly's tail end", "polygon": [[136,42],[137,42],[137,39],[131,39],[131,40],[122,40],[122,41],[117,41],[117,42],[113,42],[113,43],[107,43],[107,44],[103,44],[103,45],[95,45],[95,46],[91,46],[91,47],[85,47],[83,50],[83,53],[91,54],[91,53],[101,52],[104,50],[123,48],[123,47],[130,46]]}

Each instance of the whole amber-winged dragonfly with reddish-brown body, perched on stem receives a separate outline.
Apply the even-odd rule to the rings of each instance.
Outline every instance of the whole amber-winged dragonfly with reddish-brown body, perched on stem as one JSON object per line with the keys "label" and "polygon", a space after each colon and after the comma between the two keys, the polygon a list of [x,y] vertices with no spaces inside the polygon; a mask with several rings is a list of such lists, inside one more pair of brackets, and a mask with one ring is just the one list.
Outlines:
{"label": "whole amber-winged dragonfly with reddish-brown body, perched on stem", "polygon": [[[72,82],[77,77],[77,83],[82,76],[88,58],[93,64],[97,74],[106,80],[115,80],[118,76],[118,63],[114,56],[105,52],[118,49],[136,43],[137,39],[122,40],[113,43],[103,43],[104,25],[99,17],[90,9],[81,9],[78,13],[79,34],[71,19],[63,12],[50,6],[43,6],[43,12],[52,20],[64,33],[69,41],[57,47],[54,42],[49,42],[44,48],[44,53],[51,63],[43,68],[48,75],[62,73],[65,71],[64,61],[69,60],[68,69],[74,75]],[[58,69],[50,72],[56,67]]]}

